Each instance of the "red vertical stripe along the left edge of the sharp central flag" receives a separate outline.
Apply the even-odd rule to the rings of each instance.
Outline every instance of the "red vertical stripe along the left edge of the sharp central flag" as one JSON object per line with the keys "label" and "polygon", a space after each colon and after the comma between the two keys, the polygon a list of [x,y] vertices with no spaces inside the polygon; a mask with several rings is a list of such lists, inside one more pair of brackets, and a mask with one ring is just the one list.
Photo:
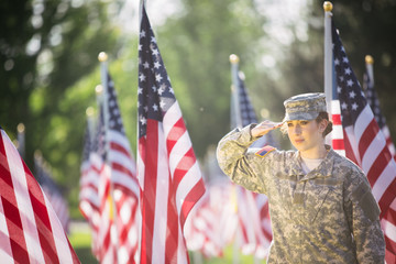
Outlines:
{"label": "red vertical stripe along the left edge of the sharp central flag", "polygon": [[155,218],[155,196],[157,183],[157,155],[158,155],[158,122],[152,119],[147,120],[146,140],[144,145],[140,140],[140,148],[144,148],[142,160],[145,165],[144,191],[141,193],[142,200],[142,245],[141,264],[152,263],[153,252],[153,231]]}

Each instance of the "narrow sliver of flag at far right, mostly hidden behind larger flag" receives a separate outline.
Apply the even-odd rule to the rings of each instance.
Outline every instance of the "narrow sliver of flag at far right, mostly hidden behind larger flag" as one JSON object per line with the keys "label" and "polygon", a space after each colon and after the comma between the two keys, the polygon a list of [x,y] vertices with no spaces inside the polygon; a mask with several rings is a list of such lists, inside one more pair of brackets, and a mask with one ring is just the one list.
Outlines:
{"label": "narrow sliver of flag at far right, mostly hidden behind larger flag", "polygon": [[372,64],[366,63],[366,70],[363,76],[363,90],[371,109],[374,112],[374,117],[383,134],[385,135],[386,145],[391,151],[391,154],[396,158],[395,145],[391,138],[389,128],[386,125],[386,119],[381,112],[378,96],[374,89],[374,76],[370,73]]}

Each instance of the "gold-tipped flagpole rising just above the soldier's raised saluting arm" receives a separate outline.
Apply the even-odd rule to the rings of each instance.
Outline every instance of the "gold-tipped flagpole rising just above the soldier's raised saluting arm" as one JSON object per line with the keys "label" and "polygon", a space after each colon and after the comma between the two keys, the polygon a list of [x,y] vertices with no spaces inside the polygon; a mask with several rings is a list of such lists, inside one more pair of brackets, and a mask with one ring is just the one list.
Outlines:
{"label": "gold-tipped flagpole rising just above the soldier's raised saluting arm", "polygon": [[[235,120],[237,128],[242,128],[242,118],[240,111],[240,103],[239,103],[239,80],[238,80],[238,73],[239,73],[239,57],[235,54],[230,55],[230,63],[231,63],[231,96],[232,96],[232,105],[233,105],[233,119]],[[232,106],[231,106],[232,108]],[[232,124],[231,124],[232,125]],[[234,128],[232,128],[234,129]]]}

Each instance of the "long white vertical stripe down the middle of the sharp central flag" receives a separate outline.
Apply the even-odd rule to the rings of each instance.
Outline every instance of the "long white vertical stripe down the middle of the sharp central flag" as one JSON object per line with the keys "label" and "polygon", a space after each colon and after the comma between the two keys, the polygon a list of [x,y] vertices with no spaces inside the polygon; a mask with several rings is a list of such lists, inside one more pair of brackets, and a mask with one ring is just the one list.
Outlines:
{"label": "long white vertical stripe down the middle of the sharp central flag", "polygon": [[[155,190],[155,216],[152,263],[165,263],[167,231],[167,204],[169,190],[169,167],[162,123],[158,122],[157,183]],[[152,202],[152,201],[148,201]],[[148,206],[148,205],[146,205]]]}

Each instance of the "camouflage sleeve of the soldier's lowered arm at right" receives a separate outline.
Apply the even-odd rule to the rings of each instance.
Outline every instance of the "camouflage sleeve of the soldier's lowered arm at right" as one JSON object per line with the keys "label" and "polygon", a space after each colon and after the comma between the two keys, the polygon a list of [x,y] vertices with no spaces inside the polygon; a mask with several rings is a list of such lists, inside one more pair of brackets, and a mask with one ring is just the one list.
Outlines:
{"label": "camouflage sleeve of the soldier's lowered arm at right", "polygon": [[359,263],[384,263],[385,240],[380,224],[380,207],[366,176],[353,172],[344,189],[344,210],[353,233]]}

